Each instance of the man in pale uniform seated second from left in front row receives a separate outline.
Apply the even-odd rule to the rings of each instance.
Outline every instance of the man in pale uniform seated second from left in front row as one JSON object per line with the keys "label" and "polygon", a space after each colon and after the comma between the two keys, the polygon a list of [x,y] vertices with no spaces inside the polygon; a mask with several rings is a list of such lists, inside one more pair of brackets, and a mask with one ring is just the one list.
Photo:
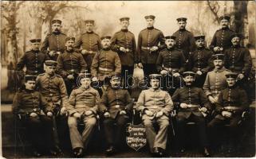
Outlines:
{"label": "man in pale uniform seated second from left in front row", "polygon": [[[82,157],[88,148],[89,138],[96,125],[96,111],[100,103],[98,91],[90,87],[91,75],[85,73],[79,76],[81,86],[74,89],[69,96],[69,133],[75,157]],[[77,123],[85,123],[85,129],[80,134]]]}

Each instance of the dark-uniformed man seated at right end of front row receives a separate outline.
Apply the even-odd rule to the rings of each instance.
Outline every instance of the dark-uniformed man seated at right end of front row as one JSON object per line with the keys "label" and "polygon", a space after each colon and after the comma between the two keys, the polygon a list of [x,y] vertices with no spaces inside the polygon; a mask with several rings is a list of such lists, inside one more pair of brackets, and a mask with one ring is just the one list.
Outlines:
{"label": "dark-uniformed man seated at right end of front row", "polygon": [[216,136],[216,129],[224,124],[229,124],[229,142],[228,151],[231,152],[232,145],[238,145],[239,140],[239,124],[242,119],[242,112],[249,108],[246,91],[238,87],[238,74],[230,72],[226,74],[226,82],[228,87],[220,92],[218,102],[216,103],[217,115],[208,123],[213,138]]}

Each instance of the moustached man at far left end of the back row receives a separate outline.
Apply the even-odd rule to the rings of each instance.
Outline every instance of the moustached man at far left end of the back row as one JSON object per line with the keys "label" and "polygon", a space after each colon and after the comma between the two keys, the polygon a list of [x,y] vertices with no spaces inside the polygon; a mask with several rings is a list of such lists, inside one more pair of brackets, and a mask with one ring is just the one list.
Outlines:
{"label": "moustached man at far left end of the back row", "polygon": [[52,21],[52,33],[45,37],[41,45],[41,51],[49,56],[50,60],[57,60],[57,57],[65,50],[65,38],[67,36],[61,33],[61,20]]}

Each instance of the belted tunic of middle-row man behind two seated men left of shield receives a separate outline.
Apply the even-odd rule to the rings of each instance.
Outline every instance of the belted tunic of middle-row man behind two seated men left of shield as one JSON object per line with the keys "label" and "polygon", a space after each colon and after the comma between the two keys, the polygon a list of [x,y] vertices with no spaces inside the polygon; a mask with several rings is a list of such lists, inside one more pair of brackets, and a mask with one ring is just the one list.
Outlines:
{"label": "belted tunic of middle-row man behind two seated men left of shield", "polygon": [[97,52],[93,58],[91,73],[93,77],[96,76],[100,81],[103,81],[106,77],[120,74],[121,63],[118,54],[110,48]]}

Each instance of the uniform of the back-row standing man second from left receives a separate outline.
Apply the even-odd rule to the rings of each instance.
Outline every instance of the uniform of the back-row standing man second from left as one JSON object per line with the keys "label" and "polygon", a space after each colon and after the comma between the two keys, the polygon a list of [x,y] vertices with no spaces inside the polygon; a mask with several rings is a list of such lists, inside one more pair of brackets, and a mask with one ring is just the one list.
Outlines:
{"label": "uniform of the back-row standing man second from left", "polygon": [[87,51],[92,51],[92,53],[85,53],[85,55],[83,55],[88,70],[90,70],[93,62],[93,57],[96,55],[96,52],[99,52],[99,50],[101,49],[100,37],[94,32],[83,33],[81,37],[77,40],[74,48],[77,48],[79,50],[86,49]]}

